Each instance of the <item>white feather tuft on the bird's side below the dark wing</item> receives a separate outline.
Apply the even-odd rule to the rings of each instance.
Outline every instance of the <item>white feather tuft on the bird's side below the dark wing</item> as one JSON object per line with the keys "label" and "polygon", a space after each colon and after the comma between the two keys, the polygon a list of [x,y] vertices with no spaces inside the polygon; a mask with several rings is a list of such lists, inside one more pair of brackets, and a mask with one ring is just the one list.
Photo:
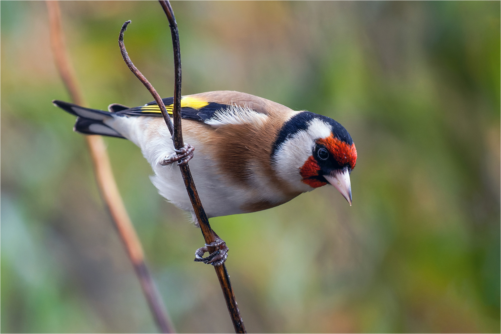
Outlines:
{"label": "white feather tuft on the bird's side below the dark wing", "polygon": [[246,106],[240,107],[236,105],[228,106],[225,109],[217,110],[214,115],[205,120],[205,124],[212,126],[221,126],[227,124],[243,125],[254,124],[262,126],[268,120],[268,116],[258,113]]}

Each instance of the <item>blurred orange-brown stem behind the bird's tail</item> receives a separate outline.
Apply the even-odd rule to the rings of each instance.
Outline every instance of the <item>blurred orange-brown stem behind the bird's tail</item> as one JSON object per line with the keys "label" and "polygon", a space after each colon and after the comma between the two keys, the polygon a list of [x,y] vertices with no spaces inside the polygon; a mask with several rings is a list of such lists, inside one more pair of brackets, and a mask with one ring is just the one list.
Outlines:
{"label": "blurred orange-brown stem behind the bird's tail", "polygon": [[[67,55],[61,28],[59,4],[57,1],[47,1],[46,3],[49,11],[51,46],[56,66],[68,89],[72,102],[78,105],[85,105],[75,71]],[[118,191],[104,141],[101,136],[86,136],[86,140],[101,196],[125,245],[154,318],[162,332],[173,333],[175,332],[174,328],[168,318],[162,298],[156,289],[148,267],[145,264],[141,243]]]}

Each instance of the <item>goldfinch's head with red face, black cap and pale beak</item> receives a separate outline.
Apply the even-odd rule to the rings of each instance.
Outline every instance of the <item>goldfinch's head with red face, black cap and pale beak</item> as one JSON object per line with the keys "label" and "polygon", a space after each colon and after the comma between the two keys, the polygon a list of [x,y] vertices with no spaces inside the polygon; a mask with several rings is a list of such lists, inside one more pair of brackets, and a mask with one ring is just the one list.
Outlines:
{"label": "goldfinch's head with red face, black cap and pale beak", "polygon": [[335,120],[300,112],[279,131],[272,149],[278,176],[298,191],[332,184],[351,205],[350,173],[357,149],[346,129]]}

